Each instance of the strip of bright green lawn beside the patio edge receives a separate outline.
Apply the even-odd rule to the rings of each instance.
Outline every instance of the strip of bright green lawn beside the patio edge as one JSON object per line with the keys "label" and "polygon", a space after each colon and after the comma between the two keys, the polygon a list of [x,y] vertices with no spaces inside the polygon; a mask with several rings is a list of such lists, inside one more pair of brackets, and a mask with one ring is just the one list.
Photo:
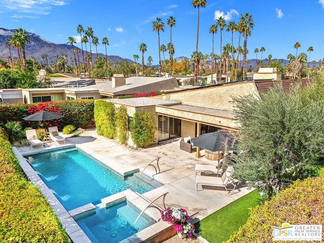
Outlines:
{"label": "strip of bright green lawn beside the patio edge", "polygon": [[265,199],[265,196],[260,198],[257,189],[238,198],[231,204],[201,220],[198,223],[199,225],[196,225],[199,235],[210,243],[226,241],[233,232],[245,224],[249,218],[249,209],[261,205]]}

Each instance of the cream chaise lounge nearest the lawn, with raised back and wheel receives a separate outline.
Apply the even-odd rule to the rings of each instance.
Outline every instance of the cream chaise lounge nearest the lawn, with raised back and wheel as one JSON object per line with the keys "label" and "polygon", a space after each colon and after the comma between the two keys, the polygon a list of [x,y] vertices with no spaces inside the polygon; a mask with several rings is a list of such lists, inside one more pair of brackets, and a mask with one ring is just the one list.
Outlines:
{"label": "cream chaise lounge nearest the lawn, with raised back and wheel", "polygon": [[232,184],[233,189],[231,192],[236,188],[236,184],[234,183],[231,176],[233,174],[233,168],[229,166],[225,173],[223,173],[222,177],[213,177],[213,176],[196,176],[196,191],[198,190],[199,186],[201,188],[204,186],[215,186],[215,187],[224,187],[227,193],[227,185]]}

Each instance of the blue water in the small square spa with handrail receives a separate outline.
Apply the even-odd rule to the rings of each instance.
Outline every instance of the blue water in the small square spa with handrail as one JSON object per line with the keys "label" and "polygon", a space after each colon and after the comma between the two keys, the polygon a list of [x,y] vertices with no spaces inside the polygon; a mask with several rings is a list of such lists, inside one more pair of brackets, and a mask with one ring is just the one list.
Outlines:
{"label": "blue water in the small square spa with handrail", "polygon": [[79,216],[75,221],[93,243],[115,243],[155,223],[143,215],[134,224],[139,214],[138,209],[125,201],[111,208],[97,209],[89,215]]}

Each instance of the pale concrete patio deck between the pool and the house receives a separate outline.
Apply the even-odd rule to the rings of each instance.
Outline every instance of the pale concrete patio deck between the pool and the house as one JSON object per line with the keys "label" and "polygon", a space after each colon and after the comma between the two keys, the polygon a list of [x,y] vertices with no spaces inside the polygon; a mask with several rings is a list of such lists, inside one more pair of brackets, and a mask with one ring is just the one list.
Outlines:
{"label": "pale concrete patio deck between the pool and the house", "polygon": [[[87,152],[121,175],[126,175],[130,171],[139,170],[142,172],[150,161],[160,157],[158,162],[160,173],[154,175],[154,168],[149,166],[143,174],[150,177],[154,175],[154,180],[164,185],[144,193],[143,196],[152,200],[165,192],[169,192],[165,199],[166,207],[175,206],[186,209],[188,214],[192,216],[190,219],[191,223],[198,222],[251,191],[241,186],[238,186],[239,190],[235,189],[231,194],[228,194],[224,188],[219,187],[203,187],[204,189],[200,188],[196,191],[195,165],[217,165],[217,160],[208,160],[204,156],[196,158],[195,153],[180,150],[180,139],[161,142],[156,146],[146,149],[133,149],[98,136],[94,130],[85,131],[82,135],[75,138],[67,137],[63,134],[60,135],[66,137],[65,145],[55,146],[53,143],[49,147],[38,150],[31,150],[30,146],[18,147],[17,149],[22,155],[25,155],[75,144],[77,148]],[[203,152],[204,150],[202,154]],[[155,160],[152,165],[156,167],[156,163],[157,161]],[[228,188],[231,188],[231,186]],[[138,198],[134,198],[135,205],[136,200]],[[161,198],[155,203],[159,207],[163,207]],[[153,209],[150,210],[152,211]]]}

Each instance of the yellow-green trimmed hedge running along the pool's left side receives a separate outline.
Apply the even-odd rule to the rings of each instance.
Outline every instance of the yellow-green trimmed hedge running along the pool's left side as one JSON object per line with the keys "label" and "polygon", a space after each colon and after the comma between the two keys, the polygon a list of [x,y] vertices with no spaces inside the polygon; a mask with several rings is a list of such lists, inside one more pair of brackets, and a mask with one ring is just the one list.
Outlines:
{"label": "yellow-green trimmed hedge running along the pool's left side", "polygon": [[41,192],[24,178],[0,128],[0,242],[69,242]]}

